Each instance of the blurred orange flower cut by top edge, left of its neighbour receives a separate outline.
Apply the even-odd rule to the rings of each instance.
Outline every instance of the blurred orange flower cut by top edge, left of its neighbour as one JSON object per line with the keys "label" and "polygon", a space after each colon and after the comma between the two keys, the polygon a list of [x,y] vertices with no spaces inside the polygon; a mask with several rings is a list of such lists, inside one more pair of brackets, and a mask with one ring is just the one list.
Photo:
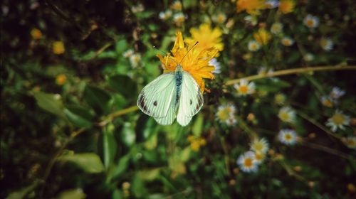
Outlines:
{"label": "blurred orange flower cut by top edge, left of its neighbour", "polygon": [[251,15],[260,14],[261,9],[266,9],[265,0],[239,0],[236,1],[237,12],[246,11]]}

